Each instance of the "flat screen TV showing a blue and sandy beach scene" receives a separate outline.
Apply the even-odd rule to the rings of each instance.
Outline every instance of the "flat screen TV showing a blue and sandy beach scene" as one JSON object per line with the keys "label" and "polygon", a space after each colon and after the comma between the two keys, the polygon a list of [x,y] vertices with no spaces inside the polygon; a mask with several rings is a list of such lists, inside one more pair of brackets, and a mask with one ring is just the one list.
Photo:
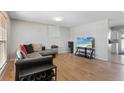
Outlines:
{"label": "flat screen TV showing a blue and sandy beach scene", "polygon": [[93,37],[77,37],[76,40],[77,47],[88,47],[94,48],[94,38]]}

